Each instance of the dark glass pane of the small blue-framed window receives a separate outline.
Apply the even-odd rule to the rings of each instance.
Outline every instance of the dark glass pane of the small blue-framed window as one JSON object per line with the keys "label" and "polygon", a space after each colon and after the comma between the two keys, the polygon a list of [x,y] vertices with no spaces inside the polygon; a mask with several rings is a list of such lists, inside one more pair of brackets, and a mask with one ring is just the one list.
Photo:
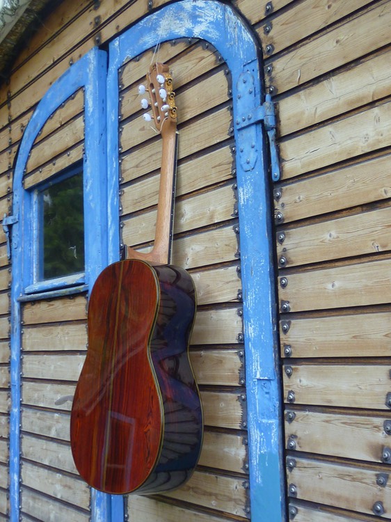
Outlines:
{"label": "dark glass pane of the small blue-framed window", "polygon": [[43,279],[84,271],[83,173],[40,192]]}

